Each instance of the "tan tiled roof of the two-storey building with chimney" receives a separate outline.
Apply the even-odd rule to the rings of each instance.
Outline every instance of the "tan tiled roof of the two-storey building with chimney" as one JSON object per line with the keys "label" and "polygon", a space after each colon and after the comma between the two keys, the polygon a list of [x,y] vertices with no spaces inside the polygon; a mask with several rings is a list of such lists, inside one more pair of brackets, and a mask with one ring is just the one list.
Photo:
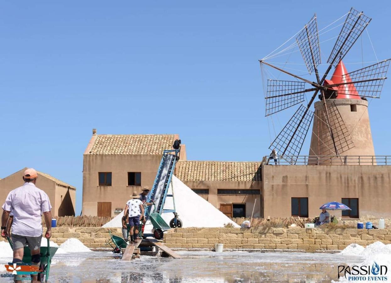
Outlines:
{"label": "tan tiled roof of the two-storey building with chimney", "polygon": [[97,135],[90,154],[162,154],[175,135]]}

